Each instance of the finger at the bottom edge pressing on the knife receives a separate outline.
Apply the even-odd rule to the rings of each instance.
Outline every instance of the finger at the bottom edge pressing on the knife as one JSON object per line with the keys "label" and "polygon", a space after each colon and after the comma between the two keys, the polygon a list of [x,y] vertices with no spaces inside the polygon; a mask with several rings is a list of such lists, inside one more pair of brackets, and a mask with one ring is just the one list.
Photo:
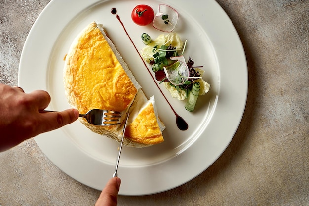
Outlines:
{"label": "finger at the bottom edge pressing on the knife", "polygon": [[119,177],[110,179],[94,206],[117,206],[120,184]]}

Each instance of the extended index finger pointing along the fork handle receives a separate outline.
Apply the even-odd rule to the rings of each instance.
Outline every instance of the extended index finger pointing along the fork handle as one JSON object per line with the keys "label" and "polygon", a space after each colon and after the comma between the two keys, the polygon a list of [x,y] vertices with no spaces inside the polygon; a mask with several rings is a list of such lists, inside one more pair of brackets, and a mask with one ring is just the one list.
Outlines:
{"label": "extended index finger pointing along the fork handle", "polygon": [[38,133],[58,129],[64,125],[73,123],[78,119],[79,112],[76,109],[68,109],[62,112],[41,113],[41,124]]}

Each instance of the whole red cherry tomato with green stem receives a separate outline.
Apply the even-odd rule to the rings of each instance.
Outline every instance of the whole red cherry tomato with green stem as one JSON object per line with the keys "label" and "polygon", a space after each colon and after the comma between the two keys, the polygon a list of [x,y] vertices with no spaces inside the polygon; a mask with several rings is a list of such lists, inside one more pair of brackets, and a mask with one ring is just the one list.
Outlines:
{"label": "whole red cherry tomato with green stem", "polygon": [[131,13],[131,18],[135,24],[146,26],[154,19],[154,10],[148,5],[137,5]]}

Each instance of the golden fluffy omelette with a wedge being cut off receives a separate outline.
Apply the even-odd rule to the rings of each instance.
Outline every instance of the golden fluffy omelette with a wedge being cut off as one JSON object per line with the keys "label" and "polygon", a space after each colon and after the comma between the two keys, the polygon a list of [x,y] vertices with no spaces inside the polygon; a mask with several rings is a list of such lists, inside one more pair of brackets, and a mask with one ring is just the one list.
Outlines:
{"label": "golden fluffy omelette with a wedge being cut off", "polygon": [[148,101],[101,24],[92,22],[73,41],[65,57],[64,87],[69,104],[79,113],[91,109],[121,112],[120,125],[96,126],[79,118],[91,131],[120,141],[132,105],[124,145],[146,147],[164,141],[165,126],[158,118],[154,98]]}

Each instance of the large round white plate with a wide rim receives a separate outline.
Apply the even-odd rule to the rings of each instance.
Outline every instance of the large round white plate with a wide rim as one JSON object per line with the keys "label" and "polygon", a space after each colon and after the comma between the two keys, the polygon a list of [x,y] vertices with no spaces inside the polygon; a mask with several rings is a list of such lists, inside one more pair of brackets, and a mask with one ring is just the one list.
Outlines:
{"label": "large round white plate with a wide rim", "polygon": [[[208,94],[198,99],[196,110],[172,99],[160,85],[176,112],[189,124],[181,131],[176,116],[159,92],[116,15],[117,9],[138,49],[143,32],[156,38],[162,32],[151,25],[135,25],[130,18],[137,4],[157,10],[160,0],[52,0],[39,15],[25,42],[19,68],[19,85],[26,92],[47,90],[49,109],[69,108],[63,88],[63,58],[77,34],[90,22],[102,23],[148,97],[154,95],[160,118],[166,124],[165,142],[149,148],[124,147],[118,174],[120,195],[146,195],[182,185],[207,169],[229,145],[242,118],[247,96],[247,66],[241,41],[232,22],[214,0],[164,0],[180,15],[174,32],[188,39],[185,57],[204,66]],[[44,154],[61,170],[90,187],[101,190],[111,178],[118,143],[85,128],[79,121],[35,138]]]}

